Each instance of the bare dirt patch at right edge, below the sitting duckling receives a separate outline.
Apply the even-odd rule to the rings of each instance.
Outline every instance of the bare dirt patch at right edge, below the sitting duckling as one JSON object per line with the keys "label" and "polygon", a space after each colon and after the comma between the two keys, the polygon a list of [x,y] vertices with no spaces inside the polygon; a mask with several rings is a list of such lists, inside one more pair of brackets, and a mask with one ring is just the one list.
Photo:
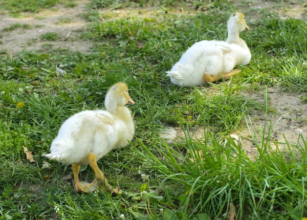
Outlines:
{"label": "bare dirt patch at right edge, below the sitting duckling", "polygon": [[[264,92],[245,95],[255,98],[258,102],[265,103]],[[251,130],[246,127],[235,133],[242,137],[242,149],[245,150],[247,156],[253,158],[258,154],[255,140],[259,145],[261,145],[262,137],[267,141],[270,128],[272,134],[269,138],[269,144],[273,150],[278,146],[283,151],[287,143],[303,145],[303,141],[299,136],[301,135],[306,140],[307,102],[300,98],[301,95],[305,96],[306,94],[280,93],[276,88],[269,89],[268,107],[270,113],[267,115],[266,126],[266,116],[263,113],[255,113],[255,115],[251,116],[251,121],[248,122]],[[264,130],[265,127],[266,129]],[[262,134],[259,134],[259,131]]]}

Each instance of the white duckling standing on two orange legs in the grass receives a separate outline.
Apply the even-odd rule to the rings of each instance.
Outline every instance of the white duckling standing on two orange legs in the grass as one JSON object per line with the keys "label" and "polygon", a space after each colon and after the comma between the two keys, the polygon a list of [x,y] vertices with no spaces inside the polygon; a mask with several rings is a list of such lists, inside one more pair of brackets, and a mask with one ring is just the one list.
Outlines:
{"label": "white duckling standing on two orange legs in the grass", "polygon": [[[67,119],[51,143],[47,158],[72,164],[74,189],[76,192],[93,192],[100,187],[116,194],[122,190],[113,189],[97,166],[97,160],[113,148],[123,147],[134,135],[134,122],[127,103],[135,104],[128,93],[128,86],[119,82],[108,90],[104,110],[83,111]],[[92,183],[79,181],[81,164],[90,164],[96,179]]]}

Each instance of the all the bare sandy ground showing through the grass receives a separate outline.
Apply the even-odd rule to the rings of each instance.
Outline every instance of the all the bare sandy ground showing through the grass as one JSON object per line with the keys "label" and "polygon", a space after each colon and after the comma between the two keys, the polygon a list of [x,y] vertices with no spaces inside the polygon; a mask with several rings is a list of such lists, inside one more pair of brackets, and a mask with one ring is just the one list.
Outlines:
{"label": "all the bare sandy ground showing through the grass", "polygon": [[[280,3],[267,1],[247,1],[250,8],[245,9],[240,1],[234,1],[233,3],[237,7],[245,12],[247,19],[257,19],[258,12],[254,12],[254,9],[267,9],[272,13],[277,13],[280,18],[296,18],[306,20],[306,12],[303,4],[298,3]],[[89,22],[82,17],[87,13],[86,4],[89,1],[77,1],[77,6],[73,8],[65,8],[63,5],[56,5],[48,10],[43,10],[39,13],[23,13],[21,18],[12,18],[9,14],[3,14],[0,16],[2,23],[0,29],[9,28],[14,24],[29,25],[31,29],[20,29],[17,28],[13,31],[5,32],[2,37],[2,45],[0,50],[6,50],[9,54],[15,54],[23,50],[33,51],[42,50],[46,48],[64,48],[70,50],[76,50],[79,52],[90,53],[93,43],[85,40],[78,39],[78,35]],[[145,18],[150,17],[152,14],[159,13],[160,9],[154,7],[142,8],[142,9],[106,9],[100,13],[109,17],[139,17]],[[188,10],[175,10],[173,13],[180,13],[185,15],[187,13],[193,13]],[[41,40],[40,36],[46,33],[56,33],[59,35],[59,40],[49,41]],[[69,34],[69,35],[68,35]],[[282,141],[283,135],[287,138],[288,142],[295,143],[298,140],[300,134],[303,137],[306,136],[307,124],[307,103],[301,100],[294,93],[282,92],[280,89],[271,89],[269,93],[269,107],[276,109],[274,114],[268,115],[267,121],[271,121],[274,128],[274,141]],[[264,92],[260,91],[257,94],[249,94],[255,97],[258,101],[264,101]],[[301,94],[306,95],[306,94]],[[262,118],[262,119],[259,119]],[[281,120],[278,120],[281,117]],[[255,114],[251,118],[251,123],[263,126],[264,118],[261,115]],[[184,137],[184,133],[180,128],[176,128],[179,137]],[[173,133],[173,131],[172,131]],[[242,131],[236,131],[234,134],[242,136],[243,143],[242,147],[246,150],[248,155],[256,154],[255,144],[250,142],[250,131],[248,128]],[[203,127],[195,129],[193,136],[195,138],[203,137]],[[272,143],[273,145],[273,143]]]}

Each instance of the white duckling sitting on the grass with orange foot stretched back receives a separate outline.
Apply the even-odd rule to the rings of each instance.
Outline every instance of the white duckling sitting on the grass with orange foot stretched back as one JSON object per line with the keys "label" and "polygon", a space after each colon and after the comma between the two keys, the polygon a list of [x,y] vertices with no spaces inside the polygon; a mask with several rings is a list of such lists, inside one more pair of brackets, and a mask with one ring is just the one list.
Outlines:
{"label": "white duckling sitting on the grass with orange foot stretched back", "polygon": [[240,32],[250,30],[244,14],[234,13],[227,22],[226,41],[203,40],[194,43],[167,73],[170,81],[181,86],[196,86],[221,78],[230,78],[240,72],[233,68],[246,65],[251,60],[251,52],[246,42],[239,37]]}

